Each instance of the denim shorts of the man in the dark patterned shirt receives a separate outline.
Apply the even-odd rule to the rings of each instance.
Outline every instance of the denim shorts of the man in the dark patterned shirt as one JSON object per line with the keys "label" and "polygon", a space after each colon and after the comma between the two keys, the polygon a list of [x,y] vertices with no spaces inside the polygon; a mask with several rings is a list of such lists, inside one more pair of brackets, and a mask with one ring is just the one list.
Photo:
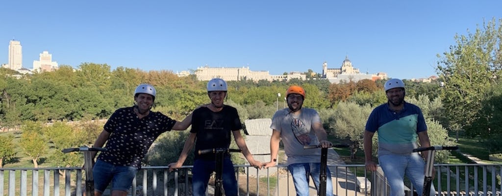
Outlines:
{"label": "denim shorts of the man in the dark patterned shirt", "polygon": [[94,189],[103,192],[111,182],[111,190],[128,191],[133,183],[138,168],[133,166],[117,166],[97,160],[92,168]]}

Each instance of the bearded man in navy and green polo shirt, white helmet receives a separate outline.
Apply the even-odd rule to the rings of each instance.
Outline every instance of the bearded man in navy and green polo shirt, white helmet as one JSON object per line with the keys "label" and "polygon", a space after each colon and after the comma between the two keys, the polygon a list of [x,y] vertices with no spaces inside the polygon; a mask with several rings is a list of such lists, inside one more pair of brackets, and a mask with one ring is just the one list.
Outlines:
{"label": "bearded man in navy and green polo shirt, white helmet", "polygon": [[[378,131],[378,160],[391,186],[391,196],[405,195],[404,176],[408,176],[418,195],[422,195],[424,184],[424,159],[412,150],[429,147],[427,125],[420,108],[404,100],[405,84],[400,79],[390,79],[384,85],[388,102],[371,112],[364,131],[364,157],[366,169],[376,170],[372,160],[373,134]],[[427,157],[427,151],[424,151]],[[434,186],[431,195],[435,194]]]}

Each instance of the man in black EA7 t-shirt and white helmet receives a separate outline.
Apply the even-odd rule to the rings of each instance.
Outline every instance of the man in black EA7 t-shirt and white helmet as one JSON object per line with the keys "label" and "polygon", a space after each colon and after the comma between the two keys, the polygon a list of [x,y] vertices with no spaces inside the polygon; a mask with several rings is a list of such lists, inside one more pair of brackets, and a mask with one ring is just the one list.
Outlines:
{"label": "man in black EA7 t-shirt and white helmet", "polygon": [[[178,161],[169,164],[170,171],[183,165],[194,143],[195,152],[205,149],[229,148],[231,133],[249,164],[261,168],[262,163],[253,158],[240,134],[242,124],[237,109],[223,104],[226,93],[227,85],[224,80],[215,78],[207,83],[207,95],[211,99],[211,103],[193,111],[192,130],[190,130],[190,135],[183,146]],[[215,164],[214,153],[195,153],[192,169],[193,195],[205,195],[209,177],[215,170]],[[225,195],[237,195],[235,171],[228,153],[224,154],[222,177]]]}

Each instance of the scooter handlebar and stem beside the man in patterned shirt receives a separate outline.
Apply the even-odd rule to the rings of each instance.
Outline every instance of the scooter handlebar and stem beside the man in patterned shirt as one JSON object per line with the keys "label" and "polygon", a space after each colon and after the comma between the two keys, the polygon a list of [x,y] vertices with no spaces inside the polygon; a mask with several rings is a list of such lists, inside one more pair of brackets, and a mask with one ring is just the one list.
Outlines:
{"label": "scooter handlebar and stem beside the man in patterned shirt", "polygon": [[89,148],[82,146],[80,148],[65,148],[63,153],[80,151],[84,153],[84,171],[85,171],[85,195],[94,196],[94,178],[92,176],[92,151],[106,151],[105,148]]}

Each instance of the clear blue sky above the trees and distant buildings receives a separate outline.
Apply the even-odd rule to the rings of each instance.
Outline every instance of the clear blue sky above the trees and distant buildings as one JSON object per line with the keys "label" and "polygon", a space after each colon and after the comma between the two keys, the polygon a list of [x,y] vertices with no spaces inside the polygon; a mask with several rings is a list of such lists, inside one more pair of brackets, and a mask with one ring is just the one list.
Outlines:
{"label": "clear blue sky above the trees and distant buildings", "polygon": [[0,63],[9,41],[23,67],[42,51],[83,62],[180,72],[197,67],[322,72],[345,56],[361,72],[436,75],[436,54],[492,18],[501,1],[3,1]]}

